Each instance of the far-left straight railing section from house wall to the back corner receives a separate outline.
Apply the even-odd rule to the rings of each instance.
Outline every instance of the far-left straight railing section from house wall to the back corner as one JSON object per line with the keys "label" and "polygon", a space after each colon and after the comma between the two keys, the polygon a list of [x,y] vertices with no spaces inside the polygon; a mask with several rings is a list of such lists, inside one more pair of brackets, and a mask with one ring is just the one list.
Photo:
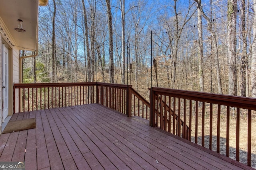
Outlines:
{"label": "far-left straight railing section from house wall to the back corner", "polygon": [[95,83],[14,84],[14,113],[91,104],[96,102],[95,93]]}

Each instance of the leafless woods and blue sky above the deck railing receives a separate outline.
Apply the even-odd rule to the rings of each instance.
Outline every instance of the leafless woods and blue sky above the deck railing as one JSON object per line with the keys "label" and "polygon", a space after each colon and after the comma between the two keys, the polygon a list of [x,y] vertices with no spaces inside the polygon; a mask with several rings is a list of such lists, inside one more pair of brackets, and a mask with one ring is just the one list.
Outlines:
{"label": "leafless woods and blue sky above the deck railing", "polygon": [[256,0],[49,0],[22,81],[255,97],[254,9]]}

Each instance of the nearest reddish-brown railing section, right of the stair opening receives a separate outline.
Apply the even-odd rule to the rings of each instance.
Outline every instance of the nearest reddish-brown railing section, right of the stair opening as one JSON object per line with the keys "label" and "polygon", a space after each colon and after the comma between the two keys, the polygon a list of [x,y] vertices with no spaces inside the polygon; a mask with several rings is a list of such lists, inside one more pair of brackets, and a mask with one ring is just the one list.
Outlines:
{"label": "nearest reddish-brown railing section, right of the stair opening", "polygon": [[[247,164],[251,166],[252,112],[256,110],[254,98],[153,87],[150,89],[150,104],[150,125],[188,138],[189,141],[204,147],[208,145],[209,149],[226,154],[228,157],[231,150],[230,135],[234,135],[230,134],[230,128],[235,126],[236,137],[233,141],[235,145],[232,145],[236,152],[235,159],[240,160],[240,149],[246,150],[240,147],[240,141],[247,140]],[[174,113],[178,114],[178,121],[175,121]],[[230,127],[232,113],[236,121],[235,125]],[[243,121],[247,121],[246,131],[242,133],[240,133],[241,117]],[[181,119],[184,121],[183,126]],[[183,128],[187,127],[186,125],[189,131]],[[246,139],[244,133],[247,134]]]}

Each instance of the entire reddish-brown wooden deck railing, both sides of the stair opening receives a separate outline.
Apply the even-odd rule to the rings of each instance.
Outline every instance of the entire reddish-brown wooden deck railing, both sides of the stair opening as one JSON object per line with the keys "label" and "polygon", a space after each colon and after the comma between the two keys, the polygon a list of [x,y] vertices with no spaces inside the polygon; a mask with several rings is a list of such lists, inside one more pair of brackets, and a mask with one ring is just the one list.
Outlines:
{"label": "entire reddish-brown wooden deck railing, both sides of the stair opening", "polygon": [[[247,150],[247,164],[251,166],[254,98],[153,87],[150,102],[147,102],[130,85],[100,82],[14,84],[13,95],[14,113],[99,103],[128,116],[150,119],[153,127],[160,127],[228,157],[234,149],[237,161],[242,148],[247,148],[244,149]],[[235,125],[230,124],[232,113]],[[244,120],[247,121],[246,132],[240,133],[240,124]],[[236,137],[232,141],[230,128],[234,126]],[[241,140],[247,140],[246,147],[240,147]]]}

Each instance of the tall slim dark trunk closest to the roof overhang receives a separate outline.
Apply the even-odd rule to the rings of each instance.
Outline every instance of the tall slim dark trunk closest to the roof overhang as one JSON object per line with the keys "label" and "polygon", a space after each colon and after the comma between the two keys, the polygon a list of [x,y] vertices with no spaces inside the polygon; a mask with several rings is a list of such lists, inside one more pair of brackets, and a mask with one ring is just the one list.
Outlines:
{"label": "tall slim dark trunk closest to the roof overhang", "polygon": [[52,16],[52,82],[55,82],[55,15],[56,15],[56,4],[53,0],[54,12]]}

